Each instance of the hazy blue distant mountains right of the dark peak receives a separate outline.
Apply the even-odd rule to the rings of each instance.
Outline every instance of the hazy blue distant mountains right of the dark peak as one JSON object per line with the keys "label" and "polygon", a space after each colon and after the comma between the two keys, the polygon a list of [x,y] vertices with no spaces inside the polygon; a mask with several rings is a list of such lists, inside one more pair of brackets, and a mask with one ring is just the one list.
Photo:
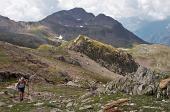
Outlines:
{"label": "hazy blue distant mountains right of the dark peak", "polygon": [[124,26],[141,39],[163,45],[170,45],[170,18],[147,21],[137,17],[122,20]]}

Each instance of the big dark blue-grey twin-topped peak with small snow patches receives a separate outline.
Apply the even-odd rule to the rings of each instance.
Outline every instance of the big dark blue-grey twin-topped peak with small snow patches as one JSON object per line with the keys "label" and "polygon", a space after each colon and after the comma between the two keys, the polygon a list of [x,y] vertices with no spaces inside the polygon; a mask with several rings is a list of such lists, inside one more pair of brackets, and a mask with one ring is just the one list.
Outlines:
{"label": "big dark blue-grey twin-topped peak with small snow patches", "polygon": [[56,12],[40,23],[56,34],[62,35],[66,40],[82,34],[115,47],[145,43],[113,18],[104,14],[94,16],[81,8]]}

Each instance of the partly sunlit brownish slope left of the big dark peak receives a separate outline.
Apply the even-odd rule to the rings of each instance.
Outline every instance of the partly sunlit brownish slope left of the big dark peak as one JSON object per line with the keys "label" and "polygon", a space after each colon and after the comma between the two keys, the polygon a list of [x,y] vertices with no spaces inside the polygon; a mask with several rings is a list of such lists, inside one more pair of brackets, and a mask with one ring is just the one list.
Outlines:
{"label": "partly sunlit brownish slope left of the big dark peak", "polygon": [[0,16],[0,41],[37,48],[42,44],[59,45],[57,35],[39,23],[15,22]]}

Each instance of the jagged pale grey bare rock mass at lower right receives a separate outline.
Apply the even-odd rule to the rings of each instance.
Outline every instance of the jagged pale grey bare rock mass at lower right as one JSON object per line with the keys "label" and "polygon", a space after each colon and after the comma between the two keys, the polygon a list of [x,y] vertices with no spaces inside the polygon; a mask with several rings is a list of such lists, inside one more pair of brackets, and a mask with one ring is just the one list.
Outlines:
{"label": "jagged pale grey bare rock mass at lower right", "polygon": [[139,67],[136,73],[109,82],[106,93],[121,91],[133,95],[154,95],[157,94],[158,80],[154,72]]}

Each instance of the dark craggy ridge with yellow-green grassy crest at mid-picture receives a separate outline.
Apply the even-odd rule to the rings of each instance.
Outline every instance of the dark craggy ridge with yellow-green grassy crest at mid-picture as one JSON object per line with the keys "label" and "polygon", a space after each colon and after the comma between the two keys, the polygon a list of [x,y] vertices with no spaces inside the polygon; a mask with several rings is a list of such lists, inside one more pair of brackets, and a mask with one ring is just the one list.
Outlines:
{"label": "dark craggy ridge with yellow-green grassy crest at mid-picture", "polygon": [[68,47],[70,50],[87,55],[100,65],[121,75],[136,72],[138,68],[138,64],[130,54],[82,35],[71,42]]}

